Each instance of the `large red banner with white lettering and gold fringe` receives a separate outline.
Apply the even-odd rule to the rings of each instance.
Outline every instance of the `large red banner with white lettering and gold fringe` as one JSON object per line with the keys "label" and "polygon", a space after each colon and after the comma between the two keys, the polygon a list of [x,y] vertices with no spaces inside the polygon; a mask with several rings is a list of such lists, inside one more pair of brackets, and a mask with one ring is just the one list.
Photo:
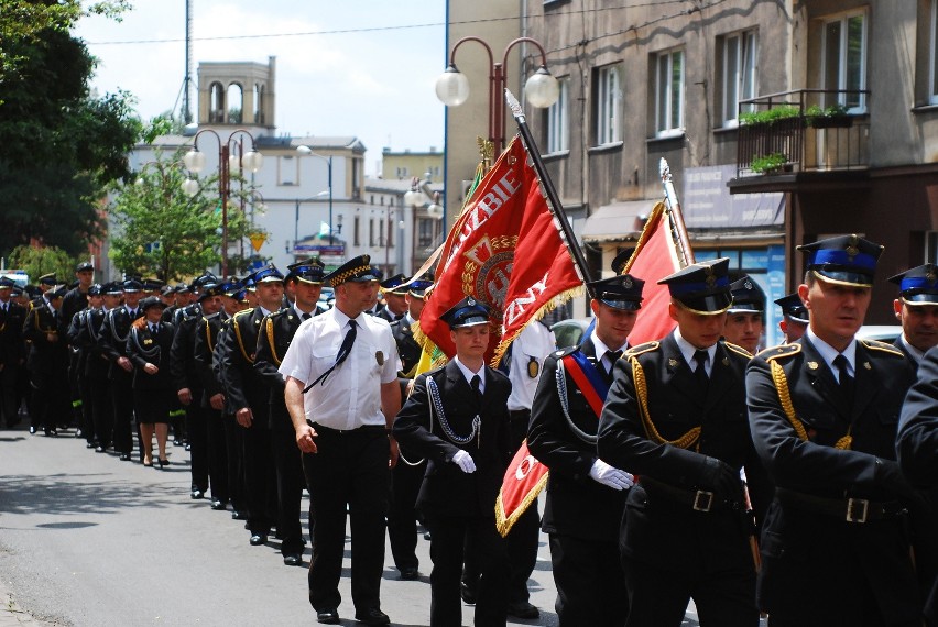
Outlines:
{"label": "large red banner with white lettering and gold fringe", "polygon": [[497,361],[526,323],[582,287],[526,156],[512,140],[447,238],[421,331],[449,358],[456,349],[439,317],[465,296],[503,323],[502,342],[487,354]]}

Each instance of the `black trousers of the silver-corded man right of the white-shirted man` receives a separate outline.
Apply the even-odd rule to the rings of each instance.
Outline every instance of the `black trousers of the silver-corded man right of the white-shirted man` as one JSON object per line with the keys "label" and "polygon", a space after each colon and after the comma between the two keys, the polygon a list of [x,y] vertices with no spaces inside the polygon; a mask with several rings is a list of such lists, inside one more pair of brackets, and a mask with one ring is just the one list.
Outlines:
{"label": "black trousers of the silver-corded man right of the white-shirted man", "polygon": [[508,552],[491,516],[426,515],[430,531],[430,627],[462,625],[459,581],[466,538],[475,547],[480,570],[476,625],[502,626],[508,622]]}

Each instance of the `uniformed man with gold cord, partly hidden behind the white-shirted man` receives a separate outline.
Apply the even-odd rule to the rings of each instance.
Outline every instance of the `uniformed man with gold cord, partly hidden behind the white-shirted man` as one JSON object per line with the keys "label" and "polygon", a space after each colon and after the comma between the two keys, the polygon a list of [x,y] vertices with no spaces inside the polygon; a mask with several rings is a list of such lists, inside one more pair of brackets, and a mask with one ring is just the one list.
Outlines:
{"label": "uniformed man with gold cord, partly hidden behind the white-shirted man", "polygon": [[[293,302],[264,318],[254,360],[254,371],[268,393],[268,429],[276,473],[276,531],[281,539],[283,563],[287,566],[303,565],[305,541],[299,525],[299,506],[305,479],[302,458],[296,451],[296,432],[283,398],[283,376],[277,369],[299,324],[323,314],[317,305],[323,292],[323,267],[318,260],[287,266],[295,284]],[[312,521],[309,528],[313,528]]]}

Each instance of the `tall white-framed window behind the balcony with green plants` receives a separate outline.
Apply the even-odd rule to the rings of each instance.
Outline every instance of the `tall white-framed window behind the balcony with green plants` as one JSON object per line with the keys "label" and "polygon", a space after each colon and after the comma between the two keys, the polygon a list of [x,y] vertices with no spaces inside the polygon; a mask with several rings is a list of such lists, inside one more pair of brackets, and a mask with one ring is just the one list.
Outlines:
{"label": "tall white-framed window behind the balcony with green plants", "polygon": [[824,23],[822,35],[825,106],[843,105],[851,113],[866,110],[866,14],[851,13]]}

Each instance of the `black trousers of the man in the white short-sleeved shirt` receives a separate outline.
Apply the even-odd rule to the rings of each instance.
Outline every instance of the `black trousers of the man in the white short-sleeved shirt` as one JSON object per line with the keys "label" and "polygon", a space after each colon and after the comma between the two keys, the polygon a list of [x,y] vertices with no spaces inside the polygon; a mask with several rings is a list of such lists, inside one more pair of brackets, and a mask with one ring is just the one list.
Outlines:
{"label": "black trousers of the man in the white short-sleeved shirt", "polygon": [[348,509],[352,603],[359,612],[379,608],[391,481],[388,437],[383,427],[352,431],[315,428],[318,452],[303,455],[313,510],[309,603],[317,612],[341,603],[339,576]]}

